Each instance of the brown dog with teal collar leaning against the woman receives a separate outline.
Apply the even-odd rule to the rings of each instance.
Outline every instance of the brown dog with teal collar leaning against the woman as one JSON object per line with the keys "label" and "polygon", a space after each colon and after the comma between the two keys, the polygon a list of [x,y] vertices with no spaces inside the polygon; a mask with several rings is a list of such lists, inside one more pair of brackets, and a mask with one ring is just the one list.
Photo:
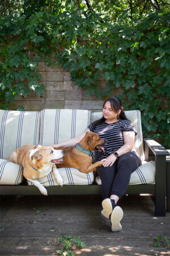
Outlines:
{"label": "brown dog with teal collar leaning against the woman", "polygon": [[[101,139],[98,134],[87,131],[82,141],[78,143],[78,146],[82,147],[85,152],[93,152],[94,150],[104,151],[103,146],[106,143],[105,139]],[[80,172],[84,172],[84,174],[88,174],[92,170],[96,171],[96,167],[102,166],[104,163],[103,161],[98,161],[92,164],[92,156],[87,155],[76,147],[59,147],[56,149],[65,150],[63,162],[59,165],[56,164],[58,168],[72,167],[78,169]]]}

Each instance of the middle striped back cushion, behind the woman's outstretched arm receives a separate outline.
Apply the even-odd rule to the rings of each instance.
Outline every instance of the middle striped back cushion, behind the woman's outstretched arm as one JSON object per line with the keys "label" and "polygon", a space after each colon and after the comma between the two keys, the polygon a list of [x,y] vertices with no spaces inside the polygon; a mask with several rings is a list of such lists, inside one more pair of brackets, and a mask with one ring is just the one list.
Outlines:
{"label": "middle striped back cushion, behind the woman's outstretched arm", "polygon": [[78,109],[42,110],[40,144],[57,144],[82,134],[90,124],[90,114]]}

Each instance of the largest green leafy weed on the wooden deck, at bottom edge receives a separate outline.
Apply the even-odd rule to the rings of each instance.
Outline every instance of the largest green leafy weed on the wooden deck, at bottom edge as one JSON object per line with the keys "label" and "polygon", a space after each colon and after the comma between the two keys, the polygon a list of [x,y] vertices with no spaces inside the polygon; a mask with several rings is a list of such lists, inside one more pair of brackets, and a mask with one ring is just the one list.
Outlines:
{"label": "largest green leafy weed on the wooden deck, at bottom edge", "polygon": [[83,248],[85,245],[84,242],[80,241],[80,237],[71,237],[62,233],[62,237],[58,237],[59,242],[62,243],[62,248],[57,250],[58,255],[75,255],[73,249],[76,247]]}

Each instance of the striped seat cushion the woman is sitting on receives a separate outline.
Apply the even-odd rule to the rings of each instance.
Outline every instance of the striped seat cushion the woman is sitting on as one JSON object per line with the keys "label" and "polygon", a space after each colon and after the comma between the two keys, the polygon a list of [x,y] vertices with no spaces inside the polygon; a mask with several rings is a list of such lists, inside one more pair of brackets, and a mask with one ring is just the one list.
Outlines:
{"label": "striped seat cushion the woman is sitting on", "polygon": [[[155,183],[155,162],[145,162],[139,166],[130,176],[129,185],[154,184]],[[96,177],[96,183],[101,184],[100,177]]]}

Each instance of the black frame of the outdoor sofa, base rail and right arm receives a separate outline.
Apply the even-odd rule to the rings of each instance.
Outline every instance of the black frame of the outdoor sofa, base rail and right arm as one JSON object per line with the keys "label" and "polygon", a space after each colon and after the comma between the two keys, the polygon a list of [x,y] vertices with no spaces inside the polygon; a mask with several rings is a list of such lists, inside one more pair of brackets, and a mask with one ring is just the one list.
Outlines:
{"label": "black frame of the outdoor sofa, base rail and right arm", "polygon": [[[155,184],[129,185],[127,194],[154,194],[155,216],[165,216],[166,198],[166,156],[169,152],[151,139],[145,138],[145,159],[148,160],[149,151],[155,156],[156,174]],[[48,195],[100,195],[101,185],[64,185],[48,187]],[[35,186],[27,183],[20,185],[0,185],[0,195],[41,195]]]}

